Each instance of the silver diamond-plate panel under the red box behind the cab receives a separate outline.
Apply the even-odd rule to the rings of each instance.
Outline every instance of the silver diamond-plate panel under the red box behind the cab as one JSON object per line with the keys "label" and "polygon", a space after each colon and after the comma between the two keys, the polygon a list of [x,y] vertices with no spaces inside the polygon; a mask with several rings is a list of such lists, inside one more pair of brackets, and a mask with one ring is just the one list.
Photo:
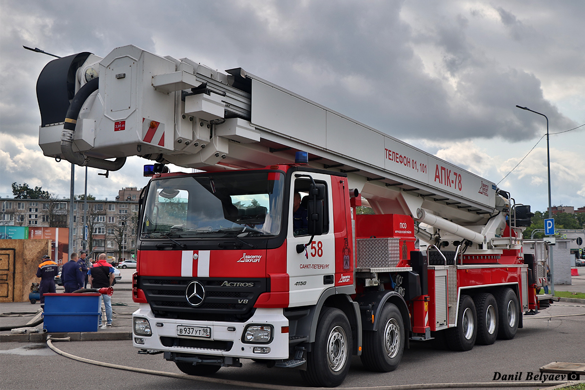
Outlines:
{"label": "silver diamond-plate panel under the red box behind the cab", "polygon": [[400,262],[400,239],[358,239],[357,268],[396,267]]}

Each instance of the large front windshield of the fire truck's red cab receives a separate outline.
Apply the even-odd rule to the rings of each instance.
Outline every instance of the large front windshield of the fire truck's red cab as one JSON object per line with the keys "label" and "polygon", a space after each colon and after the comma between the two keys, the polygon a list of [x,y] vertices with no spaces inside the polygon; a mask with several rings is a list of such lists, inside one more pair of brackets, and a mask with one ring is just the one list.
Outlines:
{"label": "large front windshield of the fire truck's red cab", "polygon": [[202,174],[154,180],[140,238],[277,236],[283,215],[280,172]]}

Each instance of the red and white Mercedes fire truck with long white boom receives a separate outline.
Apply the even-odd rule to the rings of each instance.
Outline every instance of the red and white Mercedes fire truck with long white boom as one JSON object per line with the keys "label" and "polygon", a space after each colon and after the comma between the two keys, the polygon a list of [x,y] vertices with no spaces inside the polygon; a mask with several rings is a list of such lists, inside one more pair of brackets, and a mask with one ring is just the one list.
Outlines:
{"label": "red and white Mercedes fire truck with long white boom", "polygon": [[53,60],[37,95],[46,156],[106,171],[154,161],[133,345],[187,374],[247,358],[336,386],[352,355],[392,371],[410,340],[470,350],[538,310],[530,206],[391,126],[135,46]]}

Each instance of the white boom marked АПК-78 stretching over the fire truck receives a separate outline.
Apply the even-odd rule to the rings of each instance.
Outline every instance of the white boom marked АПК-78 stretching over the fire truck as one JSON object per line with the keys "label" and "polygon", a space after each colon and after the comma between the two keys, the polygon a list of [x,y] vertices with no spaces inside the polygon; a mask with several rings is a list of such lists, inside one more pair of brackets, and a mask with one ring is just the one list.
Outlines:
{"label": "white boom marked \u0410\u041f\u041a-78 stretching over the fire truck", "polygon": [[[73,151],[213,171],[292,163],[303,150],[309,166],[346,172],[377,213],[429,210],[477,226],[507,206],[493,182],[395,139],[391,127],[380,132],[241,68],[226,72],[136,46],[87,57],[75,91],[96,75],[99,87],[74,118]],[[63,156],[62,129],[40,128],[46,156]],[[475,242],[486,236],[467,233]]]}

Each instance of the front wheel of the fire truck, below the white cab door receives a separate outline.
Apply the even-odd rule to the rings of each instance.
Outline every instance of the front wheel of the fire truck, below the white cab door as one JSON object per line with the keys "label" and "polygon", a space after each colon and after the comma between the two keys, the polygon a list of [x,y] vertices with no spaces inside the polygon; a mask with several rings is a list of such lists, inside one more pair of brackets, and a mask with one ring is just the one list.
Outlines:
{"label": "front wheel of the fire truck, below the white cab door", "polygon": [[313,387],[342,384],[351,363],[352,342],[345,313],[324,308],[319,315],[312,351],[307,353],[307,371],[301,371],[301,378]]}

